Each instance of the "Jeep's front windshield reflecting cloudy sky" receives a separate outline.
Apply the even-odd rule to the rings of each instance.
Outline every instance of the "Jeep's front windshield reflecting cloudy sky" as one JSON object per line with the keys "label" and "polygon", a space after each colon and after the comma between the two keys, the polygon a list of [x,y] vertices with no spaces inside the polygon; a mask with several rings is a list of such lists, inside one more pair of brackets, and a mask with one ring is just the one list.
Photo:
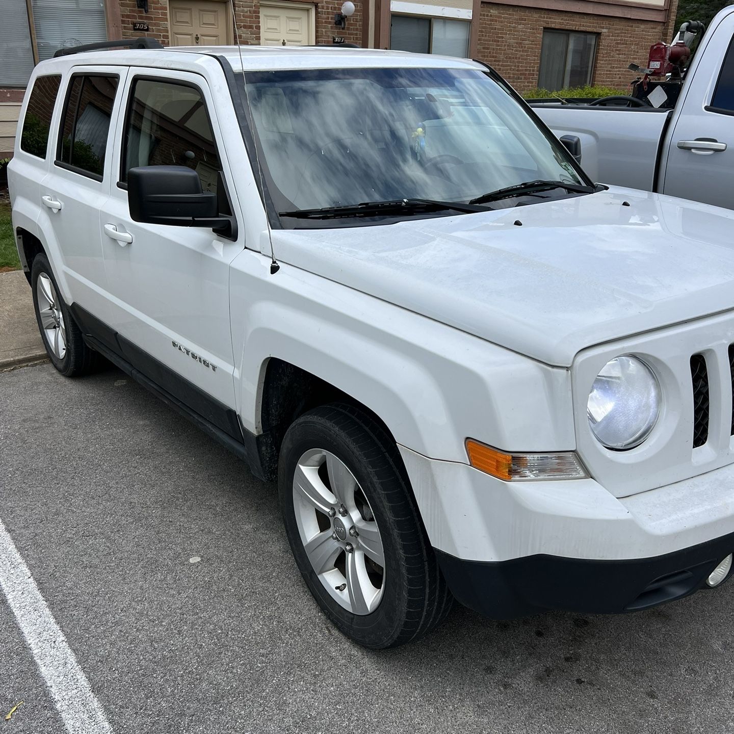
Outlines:
{"label": "Jeep's front windshield reflecting cloudy sky", "polygon": [[[465,203],[528,181],[588,183],[567,151],[482,70],[324,69],[244,77],[278,212],[413,198]],[[492,206],[516,203],[517,197],[506,198]]]}

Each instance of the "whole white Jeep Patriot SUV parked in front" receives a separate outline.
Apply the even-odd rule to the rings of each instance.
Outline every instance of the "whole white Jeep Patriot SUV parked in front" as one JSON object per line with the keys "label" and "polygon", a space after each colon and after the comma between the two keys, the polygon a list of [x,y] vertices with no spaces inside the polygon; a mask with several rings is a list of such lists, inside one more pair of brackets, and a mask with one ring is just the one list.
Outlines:
{"label": "whole white Jeep Patriot SUV parked in front", "polygon": [[477,62],[128,45],[40,63],[23,103],[48,355],[277,479],[341,631],[728,578],[734,211],[595,185]]}

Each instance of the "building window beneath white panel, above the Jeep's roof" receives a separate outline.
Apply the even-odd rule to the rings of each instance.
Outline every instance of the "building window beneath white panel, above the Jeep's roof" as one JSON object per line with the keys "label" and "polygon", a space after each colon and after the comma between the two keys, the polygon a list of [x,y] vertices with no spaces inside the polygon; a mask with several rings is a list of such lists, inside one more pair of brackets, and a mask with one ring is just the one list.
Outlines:
{"label": "building window beneath white panel, above the Jeep's roof", "polygon": [[466,21],[448,18],[393,15],[390,19],[390,48],[465,59],[469,53],[469,26]]}

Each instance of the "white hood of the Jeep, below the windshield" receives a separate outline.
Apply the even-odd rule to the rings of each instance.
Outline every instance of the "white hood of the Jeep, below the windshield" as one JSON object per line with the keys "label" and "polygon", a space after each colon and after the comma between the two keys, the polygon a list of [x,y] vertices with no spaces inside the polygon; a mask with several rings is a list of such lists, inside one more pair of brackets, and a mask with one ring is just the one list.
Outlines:
{"label": "white hood of the Jeep, below the windshield", "polygon": [[284,263],[558,366],[734,308],[734,211],[631,189],[272,239]]}

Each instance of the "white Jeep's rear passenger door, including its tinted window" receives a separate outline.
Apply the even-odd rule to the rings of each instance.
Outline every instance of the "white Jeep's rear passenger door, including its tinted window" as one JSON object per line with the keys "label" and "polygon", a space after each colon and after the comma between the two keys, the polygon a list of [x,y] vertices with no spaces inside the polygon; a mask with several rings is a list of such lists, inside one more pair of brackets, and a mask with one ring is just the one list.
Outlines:
{"label": "white Jeep's rear passenger door, including its tinted window", "polygon": [[106,308],[99,213],[109,198],[112,135],[126,70],[73,68],[54,136],[54,162],[40,184],[39,228],[62,269],[71,302],[92,313]]}

